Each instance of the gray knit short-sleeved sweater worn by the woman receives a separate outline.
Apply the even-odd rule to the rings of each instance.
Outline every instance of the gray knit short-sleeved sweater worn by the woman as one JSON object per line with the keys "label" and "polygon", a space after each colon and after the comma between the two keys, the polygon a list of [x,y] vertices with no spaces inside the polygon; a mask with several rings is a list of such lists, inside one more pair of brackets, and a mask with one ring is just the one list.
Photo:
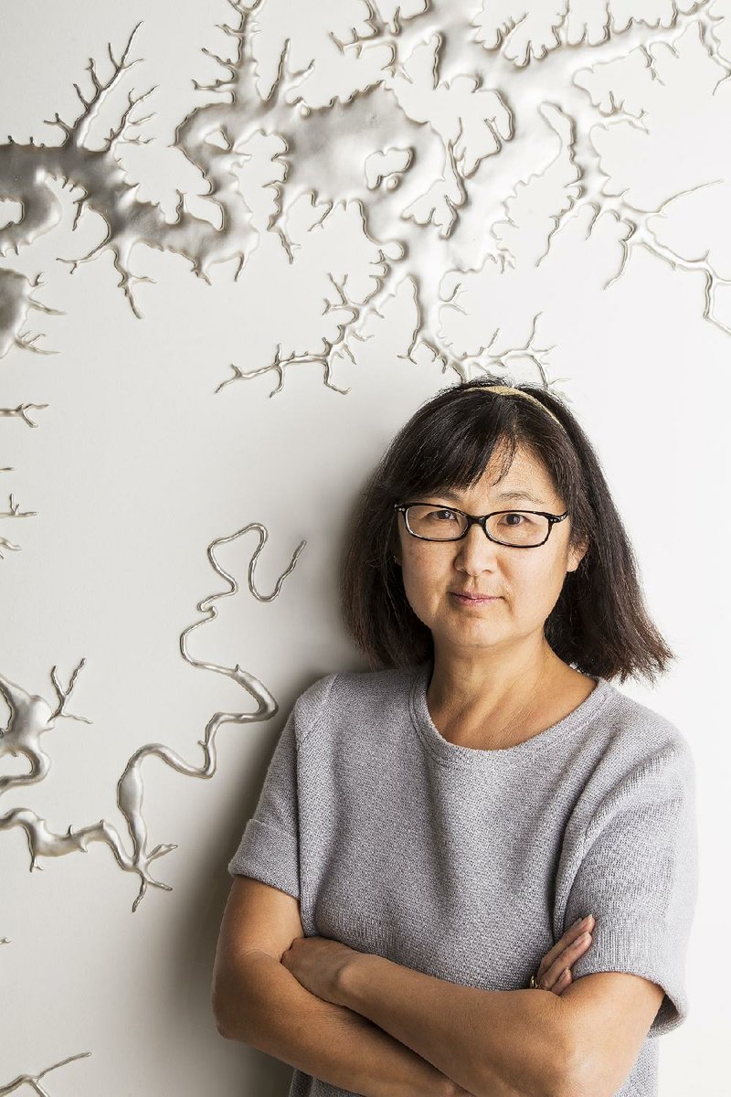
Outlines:
{"label": "gray knit short-sleeved sweater worn by the woman", "polygon": [[[295,702],[228,866],[299,900],[306,936],[452,983],[527,987],[594,914],[573,965],[665,997],[617,1095],[658,1093],[658,1041],[685,1020],[697,893],[695,764],[683,734],[607,679],[517,746],[445,739],[431,661],[325,675]],[[289,1097],[345,1090],[295,1071]]]}

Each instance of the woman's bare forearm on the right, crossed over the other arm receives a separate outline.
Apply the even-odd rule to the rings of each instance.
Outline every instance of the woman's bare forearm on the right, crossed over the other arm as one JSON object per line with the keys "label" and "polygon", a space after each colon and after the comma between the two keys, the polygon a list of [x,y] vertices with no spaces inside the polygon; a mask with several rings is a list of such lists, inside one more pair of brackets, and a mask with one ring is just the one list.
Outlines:
{"label": "woman's bare forearm on the right, crossed over the other arm", "polygon": [[[312,941],[316,960],[317,941],[333,943],[305,941]],[[656,983],[628,972],[585,975],[560,996],[482,991],[359,952],[346,958],[331,983],[333,1000],[422,1055],[457,1093],[476,1097],[612,1097],[664,995]]]}

